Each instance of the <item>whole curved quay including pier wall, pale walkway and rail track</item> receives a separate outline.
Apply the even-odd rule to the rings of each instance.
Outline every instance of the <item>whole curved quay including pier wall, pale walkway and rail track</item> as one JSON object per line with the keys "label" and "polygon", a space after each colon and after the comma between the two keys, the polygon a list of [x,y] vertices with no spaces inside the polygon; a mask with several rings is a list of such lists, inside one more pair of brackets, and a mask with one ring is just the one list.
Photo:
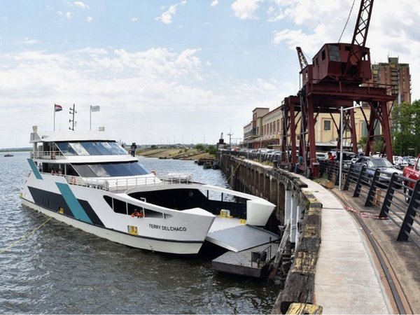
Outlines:
{"label": "whole curved quay including pier wall, pale walkway and rail track", "polygon": [[[281,223],[290,218],[290,208],[293,220],[299,218],[296,207],[306,209],[304,221],[295,221],[290,231],[290,239],[293,230],[303,233],[302,243],[273,313],[300,302],[317,304],[324,314],[420,314],[420,249],[412,241],[396,241],[398,225],[374,218],[379,207],[364,207],[363,197],[326,180],[328,188],[256,161],[223,156],[221,162],[234,189],[277,204]],[[305,255],[309,259],[302,260]]]}

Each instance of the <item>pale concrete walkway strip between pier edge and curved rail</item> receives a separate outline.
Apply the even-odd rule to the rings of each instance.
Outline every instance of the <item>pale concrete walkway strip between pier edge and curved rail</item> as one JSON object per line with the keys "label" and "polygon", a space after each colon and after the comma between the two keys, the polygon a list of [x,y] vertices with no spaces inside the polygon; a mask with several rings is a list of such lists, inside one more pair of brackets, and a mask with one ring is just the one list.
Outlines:
{"label": "pale concrete walkway strip between pier edge and curved rail", "polygon": [[360,226],[342,202],[320,184],[300,176],[323,204],[314,304],[323,314],[394,314]]}

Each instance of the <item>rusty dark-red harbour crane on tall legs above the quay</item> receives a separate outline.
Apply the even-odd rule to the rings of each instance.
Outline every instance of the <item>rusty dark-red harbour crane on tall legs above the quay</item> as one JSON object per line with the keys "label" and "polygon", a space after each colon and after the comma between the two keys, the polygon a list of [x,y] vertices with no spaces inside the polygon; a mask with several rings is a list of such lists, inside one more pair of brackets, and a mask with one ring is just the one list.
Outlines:
{"label": "rusty dark-red harbour crane on tall legs above the quay", "polygon": [[[302,89],[297,97],[290,96],[284,99],[282,110],[283,118],[283,150],[295,152],[296,139],[293,135],[300,134],[299,152],[304,157],[312,176],[318,176],[318,161],[316,160],[315,125],[321,124],[318,120],[320,113],[329,113],[337,133],[340,124],[335,122],[332,114],[339,113],[341,107],[349,109],[344,118],[346,128],[349,130],[352,150],[357,153],[356,122],[354,119],[353,104],[355,102],[367,104],[370,115],[362,110],[367,128],[367,147],[365,154],[370,153],[372,141],[376,137],[384,139],[386,156],[392,160],[391,133],[389,130],[387,102],[395,99],[386,87],[373,87],[368,84],[372,80],[370,64],[370,50],[365,47],[367,31],[369,30],[372,15],[373,0],[361,0],[356,27],[351,43],[326,43],[307,64],[302,49],[297,47],[297,56],[302,73]],[[300,118],[299,118],[300,114]],[[337,116],[337,115],[336,115]],[[299,123],[301,130],[297,131]],[[382,134],[374,134],[377,125],[381,126]],[[331,139],[332,140],[332,139]],[[339,147],[337,139],[337,148]],[[296,158],[292,154],[291,162]]]}

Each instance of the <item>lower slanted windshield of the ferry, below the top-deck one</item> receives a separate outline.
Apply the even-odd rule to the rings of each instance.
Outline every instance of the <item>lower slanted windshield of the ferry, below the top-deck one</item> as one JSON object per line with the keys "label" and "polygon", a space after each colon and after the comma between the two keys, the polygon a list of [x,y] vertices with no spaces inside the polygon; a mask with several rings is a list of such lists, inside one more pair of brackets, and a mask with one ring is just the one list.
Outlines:
{"label": "lower slanted windshield of the ferry, below the top-deck one", "polygon": [[82,177],[138,176],[149,174],[139,162],[73,164]]}

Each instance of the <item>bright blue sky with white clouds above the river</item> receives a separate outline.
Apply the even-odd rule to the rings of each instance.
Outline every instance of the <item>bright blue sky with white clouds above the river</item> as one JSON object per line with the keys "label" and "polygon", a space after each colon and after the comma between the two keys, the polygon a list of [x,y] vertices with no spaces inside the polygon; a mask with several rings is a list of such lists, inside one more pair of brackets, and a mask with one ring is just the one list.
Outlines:
{"label": "bright blue sky with white clouds above the river", "polygon": [[[353,6],[353,8],[352,8]],[[235,144],[256,107],[300,89],[324,43],[349,43],[360,0],[13,0],[0,10],[0,148],[40,131],[128,144]],[[399,57],[420,97],[420,0],[374,1],[373,63]],[[341,38],[341,39],[340,39]],[[90,106],[100,106],[90,115]],[[230,134],[230,136],[228,135]]]}

